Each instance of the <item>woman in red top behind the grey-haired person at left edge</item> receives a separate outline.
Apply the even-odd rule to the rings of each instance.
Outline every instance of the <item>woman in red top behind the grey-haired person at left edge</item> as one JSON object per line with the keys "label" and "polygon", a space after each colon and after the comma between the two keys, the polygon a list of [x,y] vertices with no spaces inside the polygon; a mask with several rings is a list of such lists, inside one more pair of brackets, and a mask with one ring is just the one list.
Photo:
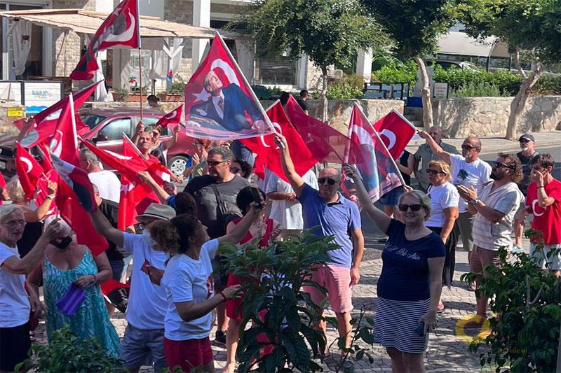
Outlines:
{"label": "woman in red top behind the grey-haired person at left edge", "polygon": [[12,200],[12,204],[20,206],[25,218],[25,230],[22,239],[18,241],[18,252],[22,257],[27,255],[36,243],[39,236],[43,232],[43,219],[54,206],[54,199],[57,194],[57,183],[49,181],[47,184],[47,196],[39,206],[36,205],[35,199],[29,201],[25,197],[20,178],[13,176],[6,185],[8,197]]}

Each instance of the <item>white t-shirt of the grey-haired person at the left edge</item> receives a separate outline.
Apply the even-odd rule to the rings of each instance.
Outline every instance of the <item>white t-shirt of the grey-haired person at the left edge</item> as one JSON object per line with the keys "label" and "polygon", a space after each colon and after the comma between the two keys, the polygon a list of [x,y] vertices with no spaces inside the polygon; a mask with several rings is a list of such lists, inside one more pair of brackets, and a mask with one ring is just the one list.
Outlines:
{"label": "white t-shirt of the grey-haired person at the left edge", "polygon": [[25,291],[25,274],[13,274],[2,265],[11,256],[20,258],[18,248],[0,242],[0,328],[13,328],[29,321],[29,298]]}

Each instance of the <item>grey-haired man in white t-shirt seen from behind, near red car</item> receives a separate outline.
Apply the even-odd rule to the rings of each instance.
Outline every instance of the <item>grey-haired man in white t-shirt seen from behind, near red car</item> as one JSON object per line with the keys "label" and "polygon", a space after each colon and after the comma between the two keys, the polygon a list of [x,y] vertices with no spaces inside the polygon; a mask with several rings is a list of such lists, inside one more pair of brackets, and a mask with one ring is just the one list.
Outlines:
{"label": "grey-haired man in white t-shirt seen from behind, near red car", "polygon": [[97,186],[100,197],[118,204],[121,198],[121,181],[119,181],[119,178],[113,172],[102,169],[100,160],[88,148],[80,149],[78,161],[80,168],[88,173],[88,178],[90,178],[92,184]]}

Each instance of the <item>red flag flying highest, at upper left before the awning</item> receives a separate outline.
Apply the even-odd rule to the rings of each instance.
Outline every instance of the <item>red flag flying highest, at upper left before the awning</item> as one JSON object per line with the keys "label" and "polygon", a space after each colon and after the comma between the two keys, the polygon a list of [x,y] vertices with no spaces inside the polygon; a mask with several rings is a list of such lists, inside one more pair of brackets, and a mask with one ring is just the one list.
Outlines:
{"label": "red flag flying highest, at upper left before the awning", "polygon": [[123,0],[97,29],[76,69],[70,74],[74,80],[93,79],[100,69],[95,59],[97,52],[114,45],[140,48],[140,17],[137,0]]}

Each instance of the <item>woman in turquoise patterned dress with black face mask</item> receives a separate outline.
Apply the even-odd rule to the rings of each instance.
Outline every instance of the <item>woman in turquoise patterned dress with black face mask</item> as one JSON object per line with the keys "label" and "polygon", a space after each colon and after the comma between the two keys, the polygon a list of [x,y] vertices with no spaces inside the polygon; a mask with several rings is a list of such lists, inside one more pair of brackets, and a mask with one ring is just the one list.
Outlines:
{"label": "woman in turquoise patterned dress with black face mask", "polygon": [[[76,244],[70,227],[64,222],[61,225],[62,229],[46,248],[45,260],[28,276],[29,285],[36,292],[39,291],[41,277],[43,279],[47,335],[69,325],[76,337],[98,337],[102,346],[112,356],[118,357],[119,336],[109,320],[100,289],[100,283],[112,276],[107,255],[101,253],[94,258],[86,246]],[[74,315],[68,316],[62,312],[58,302],[72,285],[83,289],[86,297]]]}

